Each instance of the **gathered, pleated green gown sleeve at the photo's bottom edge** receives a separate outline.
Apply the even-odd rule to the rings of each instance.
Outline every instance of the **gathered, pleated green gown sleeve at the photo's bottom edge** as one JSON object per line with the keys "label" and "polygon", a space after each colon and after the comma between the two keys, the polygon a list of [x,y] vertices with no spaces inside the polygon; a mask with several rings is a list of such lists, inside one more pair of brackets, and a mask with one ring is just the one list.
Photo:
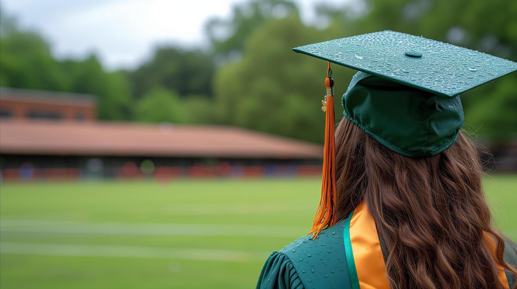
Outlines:
{"label": "gathered, pleated green gown sleeve at the photo's bottom edge", "polygon": [[269,255],[258,277],[256,289],[303,288],[293,263],[284,253],[275,251]]}

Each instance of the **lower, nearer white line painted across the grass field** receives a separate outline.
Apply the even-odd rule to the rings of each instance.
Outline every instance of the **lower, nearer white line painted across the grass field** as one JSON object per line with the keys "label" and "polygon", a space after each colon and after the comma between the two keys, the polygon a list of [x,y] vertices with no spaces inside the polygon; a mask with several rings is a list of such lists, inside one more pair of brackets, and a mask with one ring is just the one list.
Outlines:
{"label": "lower, nearer white line painted across the grass field", "polygon": [[249,252],[218,249],[35,244],[17,242],[0,242],[0,253],[24,255],[120,257],[227,262],[265,261],[267,259],[267,256],[269,255],[268,252]]}

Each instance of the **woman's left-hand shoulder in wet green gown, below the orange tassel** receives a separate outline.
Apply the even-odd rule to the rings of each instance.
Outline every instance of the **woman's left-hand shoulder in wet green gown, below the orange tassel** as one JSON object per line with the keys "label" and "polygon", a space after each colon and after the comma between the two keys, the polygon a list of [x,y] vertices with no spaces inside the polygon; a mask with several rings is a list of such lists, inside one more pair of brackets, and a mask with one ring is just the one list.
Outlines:
{"label": "woman's left-hand shoulder in wet green gown, below the orange tassel", "polygon": [[349,284],[343,245],[344,223],[322,230],[318,238],[302,236],[269,258],[258,288],[343,288]]}

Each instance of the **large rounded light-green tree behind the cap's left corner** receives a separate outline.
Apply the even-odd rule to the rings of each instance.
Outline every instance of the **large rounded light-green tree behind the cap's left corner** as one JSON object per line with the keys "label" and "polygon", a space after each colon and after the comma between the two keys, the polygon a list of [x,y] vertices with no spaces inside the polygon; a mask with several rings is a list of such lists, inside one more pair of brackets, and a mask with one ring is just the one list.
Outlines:
{"label": "large rounded light-green tree behind the cap's left corner", "polygon": [[[257,29],[246,42],[241,61],[229,63],[216,73],[219,119],[249,129],[321,142],[326,63],[291,49],[322,41],[325,35],[328,36],[302,25],[297,15],[271,20]],[[334,75],[343,71],[336,66]],[[346,84],[336,86],[346,88]],[[342,109],[337,109],[339,115]]]}

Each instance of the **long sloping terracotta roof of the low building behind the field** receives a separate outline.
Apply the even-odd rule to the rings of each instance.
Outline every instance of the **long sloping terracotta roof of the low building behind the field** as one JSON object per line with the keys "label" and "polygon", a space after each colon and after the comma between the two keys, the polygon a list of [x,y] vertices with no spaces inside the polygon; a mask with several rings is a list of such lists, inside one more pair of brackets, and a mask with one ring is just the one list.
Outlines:
{"label": "long sloping terracotta roof of the low building behind the field", "polygon": [[229,126],[3,119],[0,153],[314,159],[323,147]]}

